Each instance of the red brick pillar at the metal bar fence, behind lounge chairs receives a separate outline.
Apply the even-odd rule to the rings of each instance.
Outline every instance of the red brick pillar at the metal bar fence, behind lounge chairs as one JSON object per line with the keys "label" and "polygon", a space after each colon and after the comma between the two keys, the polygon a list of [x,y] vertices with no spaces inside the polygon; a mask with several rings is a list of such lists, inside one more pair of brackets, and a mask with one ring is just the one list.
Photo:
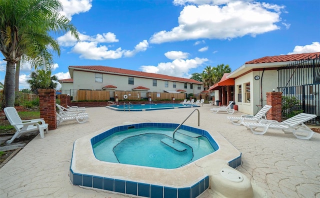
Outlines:
{"label": "red brick pillar at the metal bar fence, behind lounge chairs", "polygon": [[282,92],[266,92],[266,104],[272,107],[266,113],[266,119],[281,121]]}

